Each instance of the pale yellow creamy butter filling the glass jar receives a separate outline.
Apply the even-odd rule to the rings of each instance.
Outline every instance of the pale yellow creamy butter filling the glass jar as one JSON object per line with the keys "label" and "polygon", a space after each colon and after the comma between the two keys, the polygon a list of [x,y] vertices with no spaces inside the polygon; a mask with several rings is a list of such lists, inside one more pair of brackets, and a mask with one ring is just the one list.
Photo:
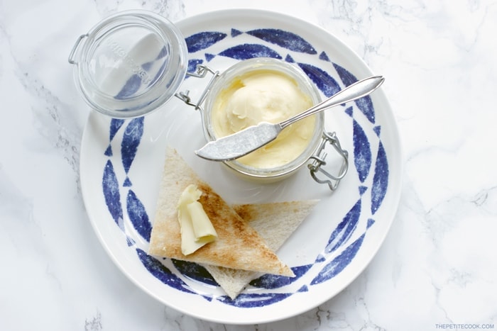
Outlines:
{"label": "pale yellow creamy butter filling the glass jar", "polygon": [[[280,123],[312,105],[310,96],[292,77],[271,69],[256,69],[236,77],[219,92],[212,105],[212,128],[221,138],[263,121]],[[305,151],[314,133],[315,116],[310,116],[237,161],[258,169],[281,167]]]}

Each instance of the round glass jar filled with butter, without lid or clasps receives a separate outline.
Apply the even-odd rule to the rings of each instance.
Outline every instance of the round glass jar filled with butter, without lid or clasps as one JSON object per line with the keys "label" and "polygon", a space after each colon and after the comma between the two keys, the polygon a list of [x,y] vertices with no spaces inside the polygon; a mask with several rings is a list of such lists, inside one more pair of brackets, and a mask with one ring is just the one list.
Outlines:
{"label": "round glass jar filled with butter, without lid or clasps", "polygon": [[[262,121],[280,123],[320,102],[314,84],[297,64],[272,58],[245,60],[213,84],[204,110],[207,140],[231,135]],[[268,145],[224,162],[244,178],[277,181],[299,169],[320,144],[324,114],[285,128]]]}

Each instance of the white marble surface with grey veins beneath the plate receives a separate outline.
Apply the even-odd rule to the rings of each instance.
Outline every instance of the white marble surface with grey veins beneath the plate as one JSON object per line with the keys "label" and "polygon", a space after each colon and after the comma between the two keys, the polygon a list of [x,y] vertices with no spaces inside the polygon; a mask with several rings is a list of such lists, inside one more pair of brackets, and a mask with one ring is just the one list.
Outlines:
{"label": "white marble surface with grey veins beneath the plate", "polygon": [[[80,190],[88,110],[67,55],[104,16],[297,16],[387,77],[405,160],[391,231],[326,303],[261,325],[183,315],[102,254]],[[0,330],[444,330],[497,326],[497,2],[0,1]],[[478,329],[476,329],[478,330]]]}

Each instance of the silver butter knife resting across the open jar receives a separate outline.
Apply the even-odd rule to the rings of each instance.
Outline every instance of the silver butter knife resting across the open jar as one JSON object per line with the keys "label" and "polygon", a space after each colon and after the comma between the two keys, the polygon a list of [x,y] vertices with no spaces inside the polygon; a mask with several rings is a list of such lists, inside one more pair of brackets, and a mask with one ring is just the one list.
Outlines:
{"label": "silver butter knife resting across the open jar", "polygon": [[385,78],[381,76],[362,79],[318,103],[316,106],[307,109],[307,111],[288,118],[288,120],[283,120],[283,122],[276,124],[261,122],[258,125],[249,126],[249,128],[240,130],[232,135],[226,135],[226,137],[207,142],[200,150],[196,150],[195,154],[212,161],[230,161],[243,157],[275,140],[281,130],[295,123],[297,120],[302,120],[302,118],[324,111],[325,109],[367,96],[378,89],[384,81]]}

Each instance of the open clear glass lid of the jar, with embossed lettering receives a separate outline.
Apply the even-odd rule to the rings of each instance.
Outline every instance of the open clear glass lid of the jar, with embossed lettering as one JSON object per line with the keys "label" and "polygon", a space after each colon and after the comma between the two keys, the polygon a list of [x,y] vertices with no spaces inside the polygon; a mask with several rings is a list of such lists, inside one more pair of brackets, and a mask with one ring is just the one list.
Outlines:
{"label": "open clear glass lid of the jar, with embossed lettering", "polygon": [[114,118],[133,118],[154,111],[178,91],[187,70],[187,45],[163,16],[124,11],[81,35],[69,62],[89,106]]}

